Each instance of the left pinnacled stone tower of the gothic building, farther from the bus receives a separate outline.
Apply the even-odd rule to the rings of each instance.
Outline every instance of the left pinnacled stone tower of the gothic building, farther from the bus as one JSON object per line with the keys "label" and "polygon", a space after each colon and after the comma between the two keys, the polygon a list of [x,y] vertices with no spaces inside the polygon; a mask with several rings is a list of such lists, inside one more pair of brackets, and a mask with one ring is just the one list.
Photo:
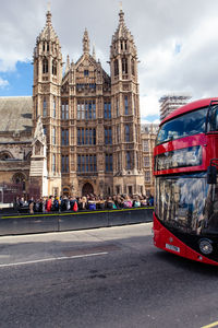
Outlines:
{"label": "left pinnacled stone tower of the gothic building, farther from the bus", "polygon": [[47,139],[48,194],[61,192],[60,107],[62,55],[51,24],[50,11],[46,25],[36,39],[34,50],[34,128],[41,116]]}

